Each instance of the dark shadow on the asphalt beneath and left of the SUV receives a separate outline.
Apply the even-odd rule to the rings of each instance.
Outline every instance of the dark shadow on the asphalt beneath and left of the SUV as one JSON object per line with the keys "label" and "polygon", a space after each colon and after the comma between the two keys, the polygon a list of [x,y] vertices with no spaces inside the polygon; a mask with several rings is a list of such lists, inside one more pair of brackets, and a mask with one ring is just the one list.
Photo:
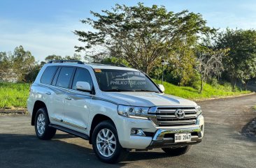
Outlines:
{"label": "dark shadow on the asphalt beneath and left of the SUV", "polygon": [[36,135],[0,134],[1,167],[123,167],[136,160],[166,157],[164,152],[131,152],[124,162],[110,165],[100,162],[92,147],[73,135],[57,134],[43,141]]}

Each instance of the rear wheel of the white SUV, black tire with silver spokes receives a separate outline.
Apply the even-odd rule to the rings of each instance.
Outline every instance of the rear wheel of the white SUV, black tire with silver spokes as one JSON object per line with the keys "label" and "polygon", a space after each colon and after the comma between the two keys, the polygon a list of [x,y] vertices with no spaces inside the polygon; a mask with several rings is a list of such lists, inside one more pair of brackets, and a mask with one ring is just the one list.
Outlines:
{"label": "rear wheel of the white SUV, black tire with silver spokes", "polygon": [[35,125],[36,136],[39,139],[49,140],[55,136],[56,129],[49,127],[50,121],[49,121],[47,109],[45,107],[38,109],[38,111],[36,112],[36,117],[34,122],[35,122],[34,125]]}

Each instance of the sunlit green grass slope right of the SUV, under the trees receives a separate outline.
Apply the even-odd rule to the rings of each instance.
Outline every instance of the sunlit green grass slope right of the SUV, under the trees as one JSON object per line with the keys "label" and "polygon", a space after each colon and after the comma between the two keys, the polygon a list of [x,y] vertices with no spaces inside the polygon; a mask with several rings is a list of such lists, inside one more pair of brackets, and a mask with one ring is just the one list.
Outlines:
{"label": "sunlit green grass slope right of the SUV, under the trees", "polygon": [[[154,80],[157,84],[161,84],[160,80]],[[179,96],[181,98],[187,98],[190,100],[204,100],[207,98],[221,98],[226,96],[238,96],[245,93],[250,93],[250,91],[232,91],[232,86],[230,84],[216,84],[212,86],[210,84],[204,84],[203,93],[199,93],[199,89],[194,89],[190,86],[176,86],[168,82],[164,82],[166,94],[171,94],[173,96]]]}

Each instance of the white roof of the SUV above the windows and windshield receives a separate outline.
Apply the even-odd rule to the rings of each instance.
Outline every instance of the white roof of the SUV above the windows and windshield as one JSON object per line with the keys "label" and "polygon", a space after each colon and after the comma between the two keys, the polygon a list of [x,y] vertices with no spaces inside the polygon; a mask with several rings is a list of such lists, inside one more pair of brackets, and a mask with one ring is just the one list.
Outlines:
{"label": "white roof of the SUV above the windows and windshield", "polygon": [[46,66],[76,66],[76,67],[83,67],[83,66],[90,66],[92,69],[113,69],[113,70],[134,70],[139,71],[134,68],[129,68],[125,66],[113,66],[107,64],[100,64],[100,63],[46,63]]}

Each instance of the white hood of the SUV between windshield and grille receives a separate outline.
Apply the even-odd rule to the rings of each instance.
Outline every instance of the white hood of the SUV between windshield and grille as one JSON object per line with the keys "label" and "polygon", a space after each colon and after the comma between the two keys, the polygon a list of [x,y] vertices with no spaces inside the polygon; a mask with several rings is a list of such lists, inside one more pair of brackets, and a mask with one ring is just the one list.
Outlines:
{"label": "white hood of the SUV between windshield and grille", "polygon": [[122,104],[127,102],[127,105],[152,107],[152,106],[190,106],[194,107],[197,103],[179,98],[176,96],[167,95],[164,93],[154,92],[108,92],[103,93],[103,96],[108,100],[113,100]]}

